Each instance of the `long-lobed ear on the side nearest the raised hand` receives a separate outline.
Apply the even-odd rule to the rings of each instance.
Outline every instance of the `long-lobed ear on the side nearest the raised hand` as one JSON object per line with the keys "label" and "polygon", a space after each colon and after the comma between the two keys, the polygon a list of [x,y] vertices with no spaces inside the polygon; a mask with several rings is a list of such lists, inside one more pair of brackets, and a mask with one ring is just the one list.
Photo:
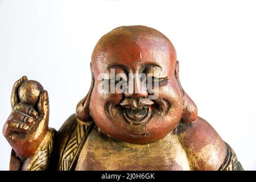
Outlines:
{"label": "long-lobed ear on the side nearest the raised hand", "polygon": [[76,106],[76,117],[80,121],[92,120],[92,117],[90,116],[90,97],[92,96],[92,90],[94,86],[94,74],[92,71],[92,63],[90,64],[90,71],[92,72],[90,90],[88,94],[84,98],[82,98],[82,100]]}

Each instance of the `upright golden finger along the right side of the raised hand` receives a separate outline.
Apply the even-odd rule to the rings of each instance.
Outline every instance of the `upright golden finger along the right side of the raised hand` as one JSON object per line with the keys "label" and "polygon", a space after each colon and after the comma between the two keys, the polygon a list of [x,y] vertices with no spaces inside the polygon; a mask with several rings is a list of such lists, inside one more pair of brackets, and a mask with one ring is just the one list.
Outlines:
{"label": "upright golden finger along the right side of the raised hand", "polygon": [[39,116],[42,118],[43,122],[46,122],[45,124],[48,125],[49,98],[46,90],[43,90],[40,93],[39,100],[38,100],[38,111],[39,111]]}

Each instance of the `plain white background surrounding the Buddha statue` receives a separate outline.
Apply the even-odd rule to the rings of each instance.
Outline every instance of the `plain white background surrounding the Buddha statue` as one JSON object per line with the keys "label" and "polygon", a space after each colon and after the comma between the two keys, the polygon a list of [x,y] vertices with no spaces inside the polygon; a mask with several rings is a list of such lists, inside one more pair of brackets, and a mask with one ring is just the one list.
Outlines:
{"label": "plain white background surrounding the Buddha statue", "polygon": [[[183,88],[200,117],[256,169],[256,1],[0,0],[0,128],[19,77],[49,93],[59,129],[90,86],[90,55],[115,27],[142,24],[165,34],[180,61]],[[11,147],[0,134],[0,169]]]}

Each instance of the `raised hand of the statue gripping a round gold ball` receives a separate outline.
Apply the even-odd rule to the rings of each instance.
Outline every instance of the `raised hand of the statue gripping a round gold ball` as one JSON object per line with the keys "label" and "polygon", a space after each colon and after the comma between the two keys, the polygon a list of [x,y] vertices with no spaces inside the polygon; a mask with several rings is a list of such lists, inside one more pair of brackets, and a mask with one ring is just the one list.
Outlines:
{"label": "raised hand of the statue gripping a round gold ball", "polygon": [[16,155],[26,160],[35,154],[48,131],[49,101],[39,82],[23,76],[11,93],[12,111],[3,126],[3,135]]}

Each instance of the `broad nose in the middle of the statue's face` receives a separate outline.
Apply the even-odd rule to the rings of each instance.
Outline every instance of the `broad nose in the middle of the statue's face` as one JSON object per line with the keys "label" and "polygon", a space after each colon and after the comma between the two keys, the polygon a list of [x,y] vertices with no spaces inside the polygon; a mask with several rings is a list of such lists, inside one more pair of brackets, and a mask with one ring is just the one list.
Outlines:
{"label": "broad nose in the middle of the statue's face", "polygon": [[140,97],[147,98],[148,97],[147,86],[142,82],[140,77],[138,76],[134,77],[134,82],[132,85],[129,85],[129,88],[125,92],[125,97],[129,97],[129,98],[140,98]]}

